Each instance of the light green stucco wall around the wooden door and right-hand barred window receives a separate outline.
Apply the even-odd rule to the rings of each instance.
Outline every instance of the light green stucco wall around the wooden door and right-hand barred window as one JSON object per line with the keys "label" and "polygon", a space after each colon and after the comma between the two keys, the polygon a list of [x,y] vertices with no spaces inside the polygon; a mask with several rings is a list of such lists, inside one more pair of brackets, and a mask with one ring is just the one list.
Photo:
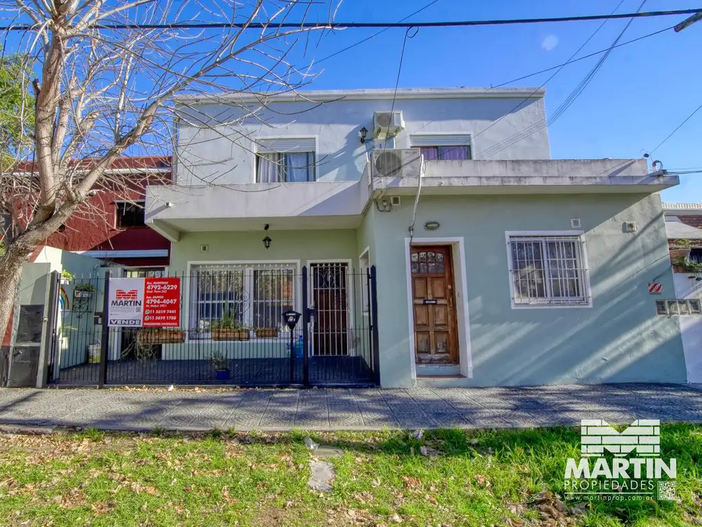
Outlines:
{"label": "light green stucco wall around the wooden door and right-hand barred window", "polygon": [[[403,200],[407,201],[407,200]],[[411,385],[406,245],[408,204],[375,214],[380,377]],[[508,230],[585,230],[592,308],[513,309]],[[441,228],[424,230],[425,221]],[[636,221],[638,232],[623,231]],[[416,237],[465,240],[472,379],[493,386],[576,382],[685,382],[672,318],[656,317],[654,278],[673,298],[661,199],[656,195],[422,197]],[[461,320],[459,320],[459,325]]]}

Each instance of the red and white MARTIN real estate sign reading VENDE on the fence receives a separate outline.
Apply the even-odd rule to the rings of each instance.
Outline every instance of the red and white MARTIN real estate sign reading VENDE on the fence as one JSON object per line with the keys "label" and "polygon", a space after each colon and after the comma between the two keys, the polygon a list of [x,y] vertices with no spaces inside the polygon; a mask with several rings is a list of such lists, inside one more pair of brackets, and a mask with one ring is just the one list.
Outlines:
{"label": "red and white MARTIN real estate sign reading VENDE on the fence", "polygon": [[180,325],[180,278],[112,278],[109,300],[107,325]]}

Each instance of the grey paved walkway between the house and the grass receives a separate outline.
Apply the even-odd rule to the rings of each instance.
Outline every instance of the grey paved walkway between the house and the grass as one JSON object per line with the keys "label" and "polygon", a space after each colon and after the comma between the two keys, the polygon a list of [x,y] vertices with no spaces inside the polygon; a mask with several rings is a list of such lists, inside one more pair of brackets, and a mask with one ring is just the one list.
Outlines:
{"label": "grey paved walkway between the house and the grass", "polygon": [[699,386],[121,391],[0,389],[0,424],[246,431],[702,422]]}

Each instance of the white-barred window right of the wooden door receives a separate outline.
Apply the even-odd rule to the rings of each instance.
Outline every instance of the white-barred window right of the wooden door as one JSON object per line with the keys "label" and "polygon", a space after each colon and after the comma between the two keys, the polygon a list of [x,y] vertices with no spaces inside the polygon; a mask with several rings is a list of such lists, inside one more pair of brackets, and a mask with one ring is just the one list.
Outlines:
{"label": "white-barred window right of the wooden door", "polygon": [[509,251],[515,306],[586,306],[590,303],[580,235],[510,235]]}

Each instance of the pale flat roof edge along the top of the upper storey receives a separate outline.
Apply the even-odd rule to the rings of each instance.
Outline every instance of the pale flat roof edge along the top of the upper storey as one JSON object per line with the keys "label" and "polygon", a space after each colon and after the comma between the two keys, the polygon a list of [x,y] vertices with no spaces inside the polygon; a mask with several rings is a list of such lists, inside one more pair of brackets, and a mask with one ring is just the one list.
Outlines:
{"label": "pale flat roof edge along the top of the upper storey", "polygon": [[299,90],[285,93],[208,93],[177,95],[176,103],[218,104],[266,102],[312,102],[333,100],[461,99],[461,98],[543,98],[545,88],[392,88],[357,90]]}

